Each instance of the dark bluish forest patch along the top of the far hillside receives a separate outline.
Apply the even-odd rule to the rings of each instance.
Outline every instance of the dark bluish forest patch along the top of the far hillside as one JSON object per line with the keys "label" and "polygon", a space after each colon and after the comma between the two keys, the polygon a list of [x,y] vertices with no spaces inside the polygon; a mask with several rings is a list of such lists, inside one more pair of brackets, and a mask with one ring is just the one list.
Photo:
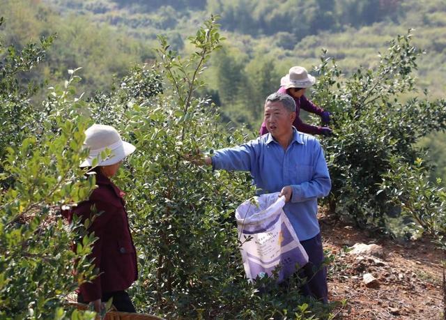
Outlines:
{"label": "dark bluish forest patch along the top of the far hillside", "polygon": [[207,10],[221,15],[222,25],[229,31],[252,36],[289,32],[301,39],[319,31],[373,24],[397,15],[398,5],[398,1],[391,0],[210,0]]}

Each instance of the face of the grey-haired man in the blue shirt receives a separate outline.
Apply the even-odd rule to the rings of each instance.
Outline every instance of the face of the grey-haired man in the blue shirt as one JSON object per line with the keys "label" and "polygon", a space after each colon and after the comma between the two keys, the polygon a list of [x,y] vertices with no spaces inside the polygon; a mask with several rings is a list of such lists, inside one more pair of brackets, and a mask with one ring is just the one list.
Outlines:
{"label": "face of the grey-haired man in the blue shirt", "polygon": [[293,131],[295,112],[289,112],[282,102],[266,102],[264,121],[268,132],[276,139]]}

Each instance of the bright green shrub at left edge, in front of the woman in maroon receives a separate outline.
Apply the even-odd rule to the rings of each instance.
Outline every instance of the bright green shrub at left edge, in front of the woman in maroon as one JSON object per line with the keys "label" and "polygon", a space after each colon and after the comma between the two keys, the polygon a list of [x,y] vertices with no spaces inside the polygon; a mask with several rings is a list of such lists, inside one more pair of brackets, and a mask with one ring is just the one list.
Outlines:
{"label": "bright green shrub at left edge, in front of the woman in maroon", "polygon": [[[94,179],[79,169],[86,121],[77,115],[78,103],[68,91],[52,93],[57,109],[42,123],[49,130],[40,137],[32,129],[20,132],[26,138],[1,158],[0,178],[10,181],[0,190],[0,317],[6,319],[66,319],[71,313],[72,319],[94,318],[93,312],[61,308],[95,273],[87,258],[94,240],[85,235],[88,224],[66,224],[59,208],[86,199]],[[79,237],[74,253],[70,243]]]}

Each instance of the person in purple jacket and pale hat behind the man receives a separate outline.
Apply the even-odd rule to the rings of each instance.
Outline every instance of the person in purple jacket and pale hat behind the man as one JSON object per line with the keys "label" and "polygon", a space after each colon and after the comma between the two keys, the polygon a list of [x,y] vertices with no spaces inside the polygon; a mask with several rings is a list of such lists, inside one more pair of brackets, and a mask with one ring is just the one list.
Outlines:
{"label": "person in purple jacket and pale hat behind the man", "polygon": [[[309,75],[305,68],[294,66],[289,70],[289,73],[280,80],[280,88],[277,92],[286,93],[294,99],[296,117],[293,125],[298,131],[309,133],[311,135],[325,135],[329,137],[332,135],[332,130],[330,128],[303,123],[299,117],[300,109],[302,108],[307,112],[312,112],[321,116],[323,123],[330,122],[330,112],[324,111],[321,107],[318,107],[305,97],[305,91],[314,83],[316,83],[316,79],[312,75]],[[268,133],[268,129],[263,122],[259,134],[265,135],[266,133]]]}

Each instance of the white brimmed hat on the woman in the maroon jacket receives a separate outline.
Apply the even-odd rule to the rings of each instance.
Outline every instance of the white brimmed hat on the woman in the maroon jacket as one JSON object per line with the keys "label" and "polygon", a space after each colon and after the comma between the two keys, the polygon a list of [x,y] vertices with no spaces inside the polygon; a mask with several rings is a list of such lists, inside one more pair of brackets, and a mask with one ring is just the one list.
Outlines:
{"label": "white brimmed hat on the woman in the maroon jacket", "polygon": [[[85,130],[84,148],[89,148],[90,154],[80,167],[93,166],[93,160],[98,159],[98,165],[114,165],[135,151],[135,147],[121,139],[118,131],[110,125],[93,124]],[[110,155],[105,160],[100,153],[110,150]]]}

